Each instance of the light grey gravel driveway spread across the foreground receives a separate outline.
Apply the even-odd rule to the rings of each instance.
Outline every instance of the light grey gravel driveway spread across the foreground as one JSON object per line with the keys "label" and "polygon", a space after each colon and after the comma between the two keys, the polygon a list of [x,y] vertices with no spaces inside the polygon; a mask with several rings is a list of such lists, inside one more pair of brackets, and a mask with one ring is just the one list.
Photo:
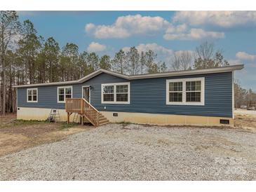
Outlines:
{"label": "light grey gravel driveway spread across the foreground", "polygon": [[0,158],[1,180],[255,180],[256,133],[108,124]]}

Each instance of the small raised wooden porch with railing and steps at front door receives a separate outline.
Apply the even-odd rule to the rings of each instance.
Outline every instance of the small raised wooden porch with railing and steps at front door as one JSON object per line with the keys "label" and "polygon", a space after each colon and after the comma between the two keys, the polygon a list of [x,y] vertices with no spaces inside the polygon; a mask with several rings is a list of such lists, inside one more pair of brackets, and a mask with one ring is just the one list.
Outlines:
{"label": "small raised wooden porch with railing and steps at front door", "polygon": [[66,99],[65,109],[67,112],[67,123],[70,122],[70,116],[73,113],[81,117],[81,125],[83,125],[84,118],[86,118],[95,127],[109,123],[107,118],[100,114],[93,105],[83,98],[68,98]]}

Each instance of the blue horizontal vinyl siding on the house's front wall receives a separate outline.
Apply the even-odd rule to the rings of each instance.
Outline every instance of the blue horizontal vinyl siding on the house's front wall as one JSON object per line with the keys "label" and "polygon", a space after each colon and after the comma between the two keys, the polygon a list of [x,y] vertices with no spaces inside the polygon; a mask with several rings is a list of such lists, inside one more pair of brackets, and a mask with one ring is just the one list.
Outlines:
{"label": "blue horizontal vinyl siding on the house's front wall", "polygon": [[[130,81],[130,104],[101,104],[101,84],[121,83],[128,80],[100,74],[81,84],[74,84],[73,98],[82,97],[82,86],[91,85],[90,102],[104,111],[125,111],[152,114],[180,114],[194,116],[232,117],[232,73],[176,76],[171,78],[205,77],[205,105],[166,105],[166,79],[147,78]],[[27,88],[18,88],[18,107],[42,107],[65,109],[65,104],[57,103],[57,87],[38,87],[38,102],[27,102]]]}

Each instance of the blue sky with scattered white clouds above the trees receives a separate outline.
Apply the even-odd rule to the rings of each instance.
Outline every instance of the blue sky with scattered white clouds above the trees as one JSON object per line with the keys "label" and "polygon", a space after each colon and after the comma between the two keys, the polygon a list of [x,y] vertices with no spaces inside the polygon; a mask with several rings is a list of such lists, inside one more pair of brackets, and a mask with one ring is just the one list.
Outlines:
{"label": "blue sky with scattered white clouds above the trees", "polygon": [[38,34],[60,43],[76,43],[79,51],[113,56],[121,48],[152,49],[170,63],[174,51],[191,50],[203,41],[215,44],[245,88],[256,91],[256,11],[19,11]]}

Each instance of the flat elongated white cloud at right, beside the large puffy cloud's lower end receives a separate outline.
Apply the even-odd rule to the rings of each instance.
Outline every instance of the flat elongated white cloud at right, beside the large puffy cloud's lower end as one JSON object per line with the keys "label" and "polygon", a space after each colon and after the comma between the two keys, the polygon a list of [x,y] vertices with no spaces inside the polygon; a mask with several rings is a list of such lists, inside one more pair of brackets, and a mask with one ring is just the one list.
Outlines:
{"label": "flat elongated white cloud at right, beside the large puffy cloud's lower end", "polygon": [[206,38],[222,39],[224,38],[224,32],[207,32],[203,29],[194,29],[194,28],[190,29],[187,32],[167,30],[163,38],[166,40],[199,40],[199,39],[206,39]]}

